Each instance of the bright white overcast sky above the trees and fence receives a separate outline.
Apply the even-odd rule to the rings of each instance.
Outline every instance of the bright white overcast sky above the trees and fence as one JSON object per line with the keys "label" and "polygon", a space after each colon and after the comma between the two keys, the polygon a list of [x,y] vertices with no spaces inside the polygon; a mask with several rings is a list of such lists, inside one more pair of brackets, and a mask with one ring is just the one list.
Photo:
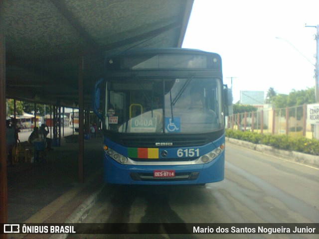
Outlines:
{"label": "bright white overcast sky above the trees and fence", "polygon": [[183,48],[222,57],[233,103],[240,91],[277,94],[315,86],[319,0],[194,0]]}

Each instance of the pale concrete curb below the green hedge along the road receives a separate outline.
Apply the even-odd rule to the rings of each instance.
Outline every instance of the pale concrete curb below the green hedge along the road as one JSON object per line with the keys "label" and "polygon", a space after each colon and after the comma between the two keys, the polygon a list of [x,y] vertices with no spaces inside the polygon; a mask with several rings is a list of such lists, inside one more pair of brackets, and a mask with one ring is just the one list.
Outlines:
{"label": "pale concrete curb below the green hedge along the road", "polygon": [[314,167],[319,168],[319,156],[311,155],[307,153],[301,153],[297,151],[288,151],[283,149],[277,149],[272,146],[264,145],[264,144],[255,144],[251,142],[247,142],[244,140],[239,140],[235,138],[229,138],[226,137],[226,142],[234,143],[252,150],[256,150],[259,152],[262,152],[264,154],[272,155],[272,156],[278,156],[283,157],[285,159],[304,163],[304,164],[310,164]]}

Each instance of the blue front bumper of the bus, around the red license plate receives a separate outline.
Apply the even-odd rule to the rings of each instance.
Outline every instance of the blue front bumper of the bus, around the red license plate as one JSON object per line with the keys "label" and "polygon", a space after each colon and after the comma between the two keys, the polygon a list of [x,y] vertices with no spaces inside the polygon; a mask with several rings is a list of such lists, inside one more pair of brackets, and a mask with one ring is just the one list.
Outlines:
{"label": "blue front bumper of the bus, around the red license plate", "polygon": [[[224,153],[206,164],[126,165],[104,155],[104,180],[113,184],[205,184],[224,179]],[[154,177],[154,171],[174,171],[173,177]]]}

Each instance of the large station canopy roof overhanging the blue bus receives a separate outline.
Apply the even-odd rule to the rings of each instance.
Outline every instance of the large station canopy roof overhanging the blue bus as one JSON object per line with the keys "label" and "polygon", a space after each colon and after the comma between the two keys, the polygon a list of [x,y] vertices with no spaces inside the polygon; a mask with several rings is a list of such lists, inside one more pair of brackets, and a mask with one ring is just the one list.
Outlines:
{"label": "large station canopy roof overhanging the blue bus", "polygon": [[106,56],[133,48],[181,47],[193,0],[4,0],[6,98],[76,107]]}

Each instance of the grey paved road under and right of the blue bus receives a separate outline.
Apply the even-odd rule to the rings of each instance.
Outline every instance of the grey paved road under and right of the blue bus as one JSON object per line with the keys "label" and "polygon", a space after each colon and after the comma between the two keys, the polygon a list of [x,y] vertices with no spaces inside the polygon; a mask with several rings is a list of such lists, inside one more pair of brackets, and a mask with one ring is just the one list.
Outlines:
{"label": "grey paved road under and right of the blue bus", "polygon": [[[107,186],[85,223],[319,223],[319,169],[227,143],[225,180],[189,186]],[[80,235],[68,238],[81,238]],[[105,235],[83,235],[105,238]],[[108,238],[180,238],[109,235]],[[318,238],[318,235],[183,235]]]}

